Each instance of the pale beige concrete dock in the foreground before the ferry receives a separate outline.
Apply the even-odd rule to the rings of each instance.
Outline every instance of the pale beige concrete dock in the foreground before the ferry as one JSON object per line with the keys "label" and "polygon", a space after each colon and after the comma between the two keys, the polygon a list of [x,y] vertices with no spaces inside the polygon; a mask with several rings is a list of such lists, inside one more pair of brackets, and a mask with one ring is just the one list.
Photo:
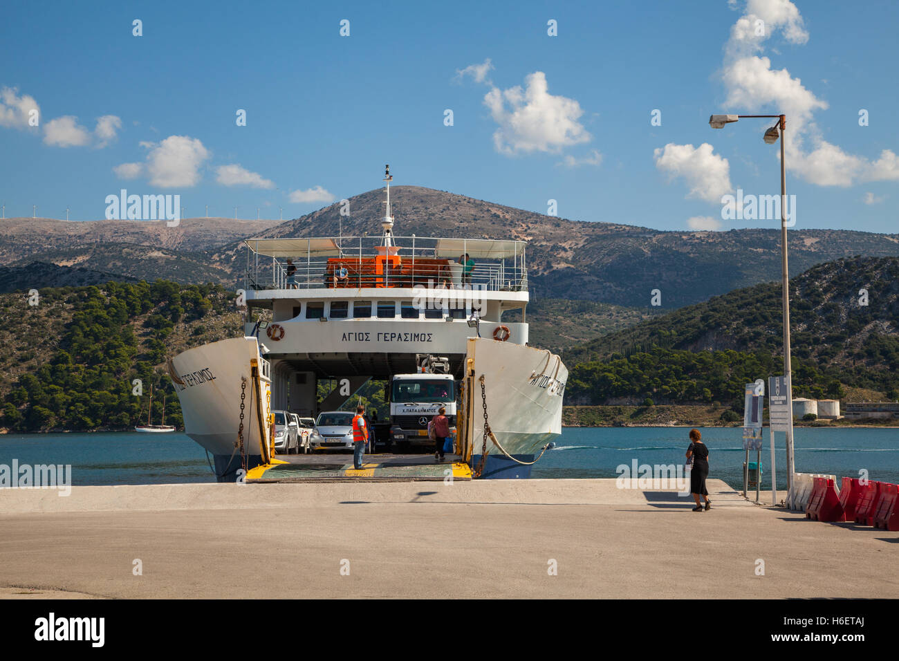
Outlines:
{"label": "pale beige concrete dock in the foreground before the ferry", "polygon": [[701,513],[612,479],[0,489],[0,597],[899,596],[899,533],[708,488]]}

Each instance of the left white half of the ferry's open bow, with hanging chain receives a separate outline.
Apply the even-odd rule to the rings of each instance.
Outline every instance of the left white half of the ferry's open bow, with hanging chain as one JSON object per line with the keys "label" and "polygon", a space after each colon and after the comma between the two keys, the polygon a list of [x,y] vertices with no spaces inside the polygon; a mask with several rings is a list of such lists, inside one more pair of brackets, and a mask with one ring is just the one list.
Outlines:
{"label": "left white half of the ferry's open bow, with hanging chain", "polygon": [[271,385],[264,374],[254,376],[254,367],[264,371],[264,364],[255,337],[204,344],[169,362],[169,375],[181,403],[184,432],[215,458],[219,480],[233,481],[236,470],[241,468],[238,430],[242,393],[247,468],[270,456],[265,439]]}

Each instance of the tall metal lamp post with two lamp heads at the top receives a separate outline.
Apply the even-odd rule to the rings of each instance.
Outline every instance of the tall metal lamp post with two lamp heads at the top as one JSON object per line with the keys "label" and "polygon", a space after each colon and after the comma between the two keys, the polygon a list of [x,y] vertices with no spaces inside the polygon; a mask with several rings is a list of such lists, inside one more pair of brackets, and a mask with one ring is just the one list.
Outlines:
{"label": "tall metal lamp post with two lamp heads at the top", "polygon": [[[788,385],[788,424],[787,424],[787,506],[791,507],[793,488],[793,380],[790,376],[790,345],[789,345],[789,270],[787,265],[787,219],[784,208],[787,205],[787,166],[784,161],[784,130],[787,128],[786,115],[712,115],[708,118],[708,125],[713,129],[724,129],[726,124],[739,121],[743,118],[776,119],[778,122],[765,131],[766,144],[773,145],[780,138],[780,257],[781,276],[783,287],[783,317],[784,317],[784,377]],[[796,210],[793,210],[796,213]],[[771,476],[774,479],[774,476]]]}

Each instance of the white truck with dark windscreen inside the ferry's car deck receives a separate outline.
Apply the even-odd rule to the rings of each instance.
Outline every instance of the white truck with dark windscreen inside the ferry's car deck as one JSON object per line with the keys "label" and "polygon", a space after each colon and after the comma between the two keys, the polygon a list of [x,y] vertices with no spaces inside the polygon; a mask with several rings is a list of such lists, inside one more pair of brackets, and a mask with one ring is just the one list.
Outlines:
{"label": "white truck with dark windscreen inside the ferry's car deck", "polygon": [[390,442],[400,450],[434,444],[428,438],[428,423],[441,406],[446,407],[450,435],[456,435],[456,380],[446,373],[449,361],[432,355],[417,359],[417,373],[390,379]]}

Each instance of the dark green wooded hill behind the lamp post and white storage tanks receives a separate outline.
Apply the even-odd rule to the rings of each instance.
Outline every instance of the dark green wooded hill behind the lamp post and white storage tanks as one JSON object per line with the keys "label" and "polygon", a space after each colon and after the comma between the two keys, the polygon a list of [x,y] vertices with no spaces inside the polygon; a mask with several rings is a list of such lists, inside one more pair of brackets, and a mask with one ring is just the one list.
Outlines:
{"label": "dark green wooded hill behind the lamp post and white storage tanks", "polygon": [[[790,281],[790,300],[794,396],[899,397],[899,258],[820,264]],[[782,328],[776,284],[654,317],[565,352],[568,403],[738,405],[743,384],[782,373]]]}

